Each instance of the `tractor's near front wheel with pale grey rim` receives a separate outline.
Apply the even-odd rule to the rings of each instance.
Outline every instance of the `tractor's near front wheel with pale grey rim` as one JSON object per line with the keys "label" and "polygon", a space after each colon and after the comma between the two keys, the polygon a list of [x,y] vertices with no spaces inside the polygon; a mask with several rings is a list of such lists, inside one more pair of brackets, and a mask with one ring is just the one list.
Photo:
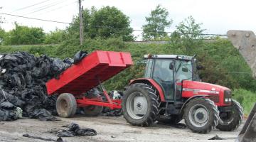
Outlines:
{"label": "tractor's near front wheel with pale grey rim", "polygon": [[210,99],[203,97],[192,99],[186,104],[183,118],[194,133],[209,133],[218,125],[218,107]]}

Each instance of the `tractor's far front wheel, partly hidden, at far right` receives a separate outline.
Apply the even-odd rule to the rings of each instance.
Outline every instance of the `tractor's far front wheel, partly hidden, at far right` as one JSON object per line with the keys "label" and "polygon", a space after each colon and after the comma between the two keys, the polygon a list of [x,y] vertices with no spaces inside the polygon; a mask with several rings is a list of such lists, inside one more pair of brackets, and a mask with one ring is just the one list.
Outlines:
{"label": "tractor's far front wheel, partly hidden, at far right", "polygon": [[242,123],[243,110],[239,102],[232,100],[233,110],[225,113],[224,116],[221,115],[220,112],[220,121],[217,126],[217,129],[220,131],[234,131],[238,129],[238,126]]}

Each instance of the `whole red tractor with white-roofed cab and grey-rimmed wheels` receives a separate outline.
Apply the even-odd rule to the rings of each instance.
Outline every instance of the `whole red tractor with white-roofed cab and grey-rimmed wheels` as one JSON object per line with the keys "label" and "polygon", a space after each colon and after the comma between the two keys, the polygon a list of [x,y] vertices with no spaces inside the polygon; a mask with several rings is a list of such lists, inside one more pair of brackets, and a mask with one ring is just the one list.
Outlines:
{"label": "whole red tractor with white-roofed cab and grey-rimmed wheels", "polygon": [[155,121],[185,123],[195,133],[217,127],[233,131],[242,121],[242,107],[227,87],[201,82],[195,56],[145,55],[144,78],[131,80],[124,92],[124,118],[135,126]]}

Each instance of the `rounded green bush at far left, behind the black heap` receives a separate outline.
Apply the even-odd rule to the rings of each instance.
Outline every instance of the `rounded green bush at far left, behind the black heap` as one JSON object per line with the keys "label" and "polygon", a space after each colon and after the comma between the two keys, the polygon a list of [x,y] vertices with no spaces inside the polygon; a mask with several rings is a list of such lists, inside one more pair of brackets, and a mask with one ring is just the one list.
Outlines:
{"label": "rounded green bush at far left, behind the black heap", "polygon": [[41,44],[46,38],[43,28],[19,26],[18,23],[15,23],[15,28],[6,34],[6,45]]}

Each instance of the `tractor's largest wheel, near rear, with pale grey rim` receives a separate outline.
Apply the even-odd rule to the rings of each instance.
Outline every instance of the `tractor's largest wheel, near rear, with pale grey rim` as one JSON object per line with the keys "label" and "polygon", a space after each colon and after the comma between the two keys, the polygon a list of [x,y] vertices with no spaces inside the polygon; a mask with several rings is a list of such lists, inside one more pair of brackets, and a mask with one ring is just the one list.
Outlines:
{"label": "tractor's largest wheel, near rear, with pale grey rim", "polygon": [[135,126],[150,126],[156,121],[159,97],[149,84],[131,84],[124,92],[122,111],[124,119]]}

